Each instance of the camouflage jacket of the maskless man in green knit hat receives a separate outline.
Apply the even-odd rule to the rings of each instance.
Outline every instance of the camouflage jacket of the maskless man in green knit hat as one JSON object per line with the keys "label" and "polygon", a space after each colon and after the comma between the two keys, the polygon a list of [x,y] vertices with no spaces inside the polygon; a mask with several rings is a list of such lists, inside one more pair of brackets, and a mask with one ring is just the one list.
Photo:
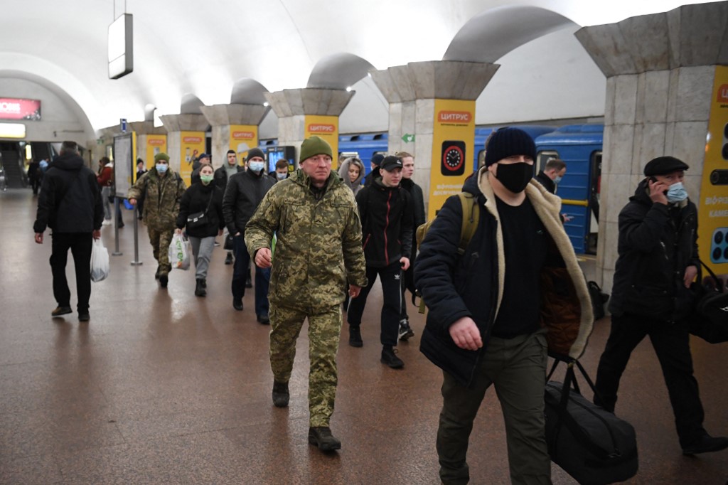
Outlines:
{"label": "camouflage jacket of the maskless man in green knit hat", "polygon": [[273,255],[268,298],[306,311],[344,301],[347,283],[366,286],[362,226],[351,189],[331,173],[323,194],[301,170],[275,184],[245,226],[245,245]]}

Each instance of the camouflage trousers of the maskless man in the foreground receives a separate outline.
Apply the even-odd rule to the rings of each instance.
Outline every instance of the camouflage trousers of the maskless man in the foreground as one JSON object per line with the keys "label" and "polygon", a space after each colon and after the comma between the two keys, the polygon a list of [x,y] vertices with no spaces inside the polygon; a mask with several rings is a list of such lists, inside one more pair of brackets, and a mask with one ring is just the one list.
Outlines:
{"label": "camouflage trousers of the maskless man in the foreground", "polygon": [[288,382],[296,357],[296,340],[309,320],[309,423],[328,426],[336,398],[336,352],[341,334],[341,305],[324,312],[306,312],[270,305],[270,356],[273,378]]}

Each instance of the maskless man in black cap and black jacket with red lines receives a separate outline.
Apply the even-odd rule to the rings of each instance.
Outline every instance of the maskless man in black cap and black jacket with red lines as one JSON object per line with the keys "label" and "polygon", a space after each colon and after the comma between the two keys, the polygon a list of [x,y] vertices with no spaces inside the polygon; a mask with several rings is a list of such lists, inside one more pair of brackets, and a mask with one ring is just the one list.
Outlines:
{"label": "maskless man in black cap and black jacket with red lines", "polygon": [[349,345],[363,345],[359,326],[366,298],[379,275],[384,298],[381,308],[381,362],[391,368],[402,368],[404,363],[395,354],[394,347],[400,322],[400,280],[402,270],[410,265],[412,201],[408,192],[400,188],[402,160],[384,157],[380,168],[381,176],[361,189],[356,197],[363,228],[368,285],[349,303]]}

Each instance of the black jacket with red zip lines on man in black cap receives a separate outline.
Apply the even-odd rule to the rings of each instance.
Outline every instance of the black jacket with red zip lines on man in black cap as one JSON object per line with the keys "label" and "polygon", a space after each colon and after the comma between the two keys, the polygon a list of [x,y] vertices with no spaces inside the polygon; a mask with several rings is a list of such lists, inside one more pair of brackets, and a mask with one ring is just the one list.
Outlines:
{"label": "black jacket with red zip lines on man in black cap", "polygon": [[412,200],[401,187],[387,187],[377,178],[356,196],[362,221],[367,266],[382,268],[410,258],[412,248]]}

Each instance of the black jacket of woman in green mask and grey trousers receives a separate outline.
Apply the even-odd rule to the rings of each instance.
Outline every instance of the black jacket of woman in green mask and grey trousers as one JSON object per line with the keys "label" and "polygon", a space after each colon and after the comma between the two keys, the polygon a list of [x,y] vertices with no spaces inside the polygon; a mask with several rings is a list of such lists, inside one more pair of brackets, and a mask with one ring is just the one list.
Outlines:
{"label": "black jacket of woman in green mask and grey trousers", "polygon": [[[208,205],[209,204],[209,205]],[[209,208],[208,208],[209,207]],[[183,229],[187,225],[190,214],[207,210],[207,225],[198,228],[187,228],[188,236],[214,237],[225,227],[223,218],[223,191],[210,184],[192,184],[182,195],[180,213],[177,216],[177,227]]]}

